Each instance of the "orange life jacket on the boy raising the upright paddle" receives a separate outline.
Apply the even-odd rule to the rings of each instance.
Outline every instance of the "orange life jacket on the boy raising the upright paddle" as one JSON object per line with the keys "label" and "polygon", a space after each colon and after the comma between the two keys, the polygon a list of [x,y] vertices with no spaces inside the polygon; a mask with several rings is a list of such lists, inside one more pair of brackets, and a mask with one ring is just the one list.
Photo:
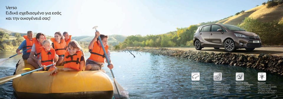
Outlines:
{"label": "orange life jacket on the boy raising the upright paddle", "polygon": [[[106,47],[104,47],[104,49],[107,53],[108,45],[106,45]],[[97,42],[94,42],[93,48],[92,48],[90,53],[91,53],[91,56],[88,59],[104,63],[105,55],[104,55],[102,47],[99,47]]]}

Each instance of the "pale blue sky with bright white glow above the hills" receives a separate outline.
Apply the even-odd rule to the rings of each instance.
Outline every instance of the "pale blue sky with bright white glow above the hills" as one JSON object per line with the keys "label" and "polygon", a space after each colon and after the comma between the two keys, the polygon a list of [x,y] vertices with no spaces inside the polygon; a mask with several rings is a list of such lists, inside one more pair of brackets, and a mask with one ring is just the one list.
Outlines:
{"label": "pale blue sky with bright white glow above the hills", "polygon": [[[176,28],[223,19],[249,10],[267,0],[49,0],[0,1],[0,28],[14,32],[42,32],[54,36],[67,31],[73,36],[101,34],[164,34]],[[6,9],[16,6],[17,9]],[[62,12],[62,15],[6,15],[13,12]],[[50,17],[45,20],[6,20],[6,17]]]}

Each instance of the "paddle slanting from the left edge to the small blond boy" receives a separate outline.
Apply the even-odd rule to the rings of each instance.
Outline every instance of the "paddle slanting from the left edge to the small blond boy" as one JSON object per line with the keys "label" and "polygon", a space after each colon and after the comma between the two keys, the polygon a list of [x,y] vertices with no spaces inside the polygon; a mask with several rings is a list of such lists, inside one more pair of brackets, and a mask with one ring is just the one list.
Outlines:
{"label": "paddle slanting from the left edge to the small blond boy", "polygon": [[[55,62],[54,64],[56,64],[56,62]],[[50,67],[50,66],[52,66],[52,65],[53,65],[53,64],[47,65],[46,68],[47,68],[47,67]],[[32,71],[29,71],[29,72],[25,72],[25,73],[22,73],[22,74],[19,74],[19,75],[13,75],[13,76],[7,76],[7,77],[0,78],[0,85],[4,84],[5,82],[8,82],[8,81],[10,81],[10,80],[12,80],[12,79],[14,79],[14,78],[21,77],[21,76],[23,76],[23,75],[27,75],[27,74],[29,74],[29,73],[32,73],[32,72],[34,72],[34,71],[41,70],[41,69],[43,69],[43,67],[38,68],[38,69],[35,69],[35,70],[32,70]]]}

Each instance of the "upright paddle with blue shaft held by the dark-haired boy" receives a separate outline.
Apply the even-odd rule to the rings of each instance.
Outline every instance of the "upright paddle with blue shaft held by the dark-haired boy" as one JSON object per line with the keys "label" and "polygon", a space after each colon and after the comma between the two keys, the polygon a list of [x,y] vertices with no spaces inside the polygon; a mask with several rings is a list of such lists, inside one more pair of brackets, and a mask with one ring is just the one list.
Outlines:
{"label": "upright paddle with blue shaft held by the dark-haired boy", "polygon": [[[97,32],[97,29],[96,29],[97,27],[98,27],[98,26],[95,26],[95,27],[93,27],[92,29],[95,29],[95,31]],[[101,41],[100,36],[98,36],[98,39],[99,39],[99,41],[100,41],[100,44],[101,44],[101,47],[102,47],[102,49],[103,49],[105,58],[106,58],[107,63],[108,63],[108,65],[109,65],[110,62],[109,62],[109,60],[108,60],[108,56],[107,56],[107,54],[106,54],[106,51],[105,51],[105,49],[104,49],[104,46],[103,46],[103,44],[102,44],[102,41]],[[114,76],[114,74],[113,74],[112,69],[110,69],[110,71],[111,71],[111,74],[112,74],[112,77],[113,77],[113,81],[114,81],[115,88],[116,88],[117,93],[118,93],[118,95],[119,95],[119,96],[115,95],[115,91],[114,91],[114,97],[115,97],[115,98],[128,98],[128,97],[129,97],[129,96],[127,95],[128,93],[125,92],[124,89],[121,87],[121,85],[119,85],[119,84],[116,82],[115,76]],[[119,89],[121,89],[121,90],[119,90]],[[122,93],[124,93],[124,94],[121,95],[121,94],[120,94],[120,91],[121,91]]]}

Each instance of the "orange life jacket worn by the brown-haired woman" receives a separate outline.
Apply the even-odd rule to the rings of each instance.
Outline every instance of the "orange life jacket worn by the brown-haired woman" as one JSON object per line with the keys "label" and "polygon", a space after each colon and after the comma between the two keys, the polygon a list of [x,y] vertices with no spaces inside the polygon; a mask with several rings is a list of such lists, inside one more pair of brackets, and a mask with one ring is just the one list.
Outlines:
{"label": "orange life jacket worn by the brown-haired woman", "polygon": [[58,56],[64,57],[64,54],[65,54],[65,52],[67,50],[67,46],[66,46],[65,40],[61,39],[61,43],[60,44],[58,42],[56,42],[55,38],[51,38],[50,40],[53,42],[56,54]]}

